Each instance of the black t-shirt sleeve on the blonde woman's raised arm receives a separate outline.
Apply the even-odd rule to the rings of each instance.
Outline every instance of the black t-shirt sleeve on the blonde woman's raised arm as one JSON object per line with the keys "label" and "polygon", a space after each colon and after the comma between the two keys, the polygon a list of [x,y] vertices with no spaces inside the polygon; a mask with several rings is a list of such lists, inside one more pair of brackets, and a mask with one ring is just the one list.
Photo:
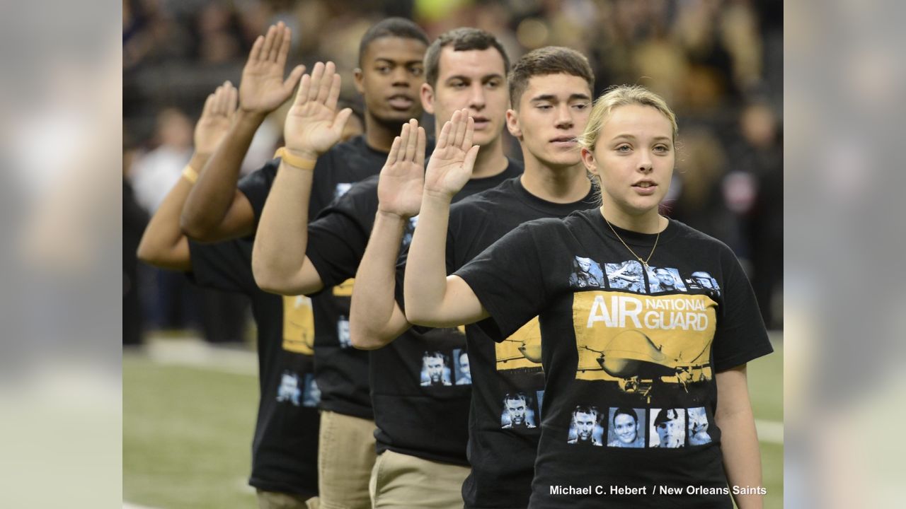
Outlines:
{"label": "black t-shirt sleeve on the blonde woman's raised arm", "polygon": [[538,315],[547,300],[545,273],[535,241],[539,224],[516,227],[454,274],[475,292],[491,315],[496,331],[482,326],[496,341],[503,341]]}

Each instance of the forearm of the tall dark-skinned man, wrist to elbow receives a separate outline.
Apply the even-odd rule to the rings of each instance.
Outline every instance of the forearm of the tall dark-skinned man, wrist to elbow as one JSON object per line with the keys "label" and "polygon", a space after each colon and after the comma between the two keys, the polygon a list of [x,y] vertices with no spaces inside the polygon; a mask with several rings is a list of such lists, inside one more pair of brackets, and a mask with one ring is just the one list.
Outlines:
{"label": "forearm of the tall dark-skinned man, wrist to elbow", "polygon": [[[222,240],[218,228],[224,222],[236,196],[236,181],[242,161],[255,137],[255,131],[265,120],[265,116],[260,113],[243,110],[239,110],[236,116],[236,122],[208,159],[204,169],[197,168],[200,173],[198,182],[189,193],[182,210],[183,231],[198,240]],[[245,229],[248,231],[234,232],[232,236],[251,233],[251,225]]]}

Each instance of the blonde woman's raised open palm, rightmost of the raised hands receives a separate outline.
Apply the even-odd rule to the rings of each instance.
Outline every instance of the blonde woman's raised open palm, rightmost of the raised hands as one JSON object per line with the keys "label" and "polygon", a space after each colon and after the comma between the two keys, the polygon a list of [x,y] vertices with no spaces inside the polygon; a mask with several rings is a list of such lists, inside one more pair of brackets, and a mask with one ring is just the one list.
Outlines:
{"label": "blonde woman's raised open palm, rightmost of the raised hands", "polygon": [[472,146],[475,120],[458,110],[444,124],[425,170],[425,192],[452,198],[472,177],[478,147]]}

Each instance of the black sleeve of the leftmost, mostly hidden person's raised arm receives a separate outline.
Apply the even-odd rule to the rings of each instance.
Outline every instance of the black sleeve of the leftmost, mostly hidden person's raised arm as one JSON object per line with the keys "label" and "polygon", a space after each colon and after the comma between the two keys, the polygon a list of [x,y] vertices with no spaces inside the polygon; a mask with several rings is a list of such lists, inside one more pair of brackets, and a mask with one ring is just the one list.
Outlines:
{"label": "black sleeve of the leftmost, mostly hidden person's raised arm", "polygon": [[192,270],[187,275],[198,286],[233,293],[250,293],[257,288],[248,241],[200,244],[189,239],[188,249]]}

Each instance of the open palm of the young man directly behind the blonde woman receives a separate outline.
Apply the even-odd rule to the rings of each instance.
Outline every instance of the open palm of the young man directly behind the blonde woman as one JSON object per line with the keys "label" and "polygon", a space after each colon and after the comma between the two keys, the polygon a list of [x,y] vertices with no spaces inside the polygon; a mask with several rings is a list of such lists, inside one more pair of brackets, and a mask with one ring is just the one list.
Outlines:
{"label": "open palm of the young man directly behind the blonde woman", "polygon": [[425,128],[412,119],[393,140],[378,180],[378,209],[400,217],[419,215],[425,182]]}

